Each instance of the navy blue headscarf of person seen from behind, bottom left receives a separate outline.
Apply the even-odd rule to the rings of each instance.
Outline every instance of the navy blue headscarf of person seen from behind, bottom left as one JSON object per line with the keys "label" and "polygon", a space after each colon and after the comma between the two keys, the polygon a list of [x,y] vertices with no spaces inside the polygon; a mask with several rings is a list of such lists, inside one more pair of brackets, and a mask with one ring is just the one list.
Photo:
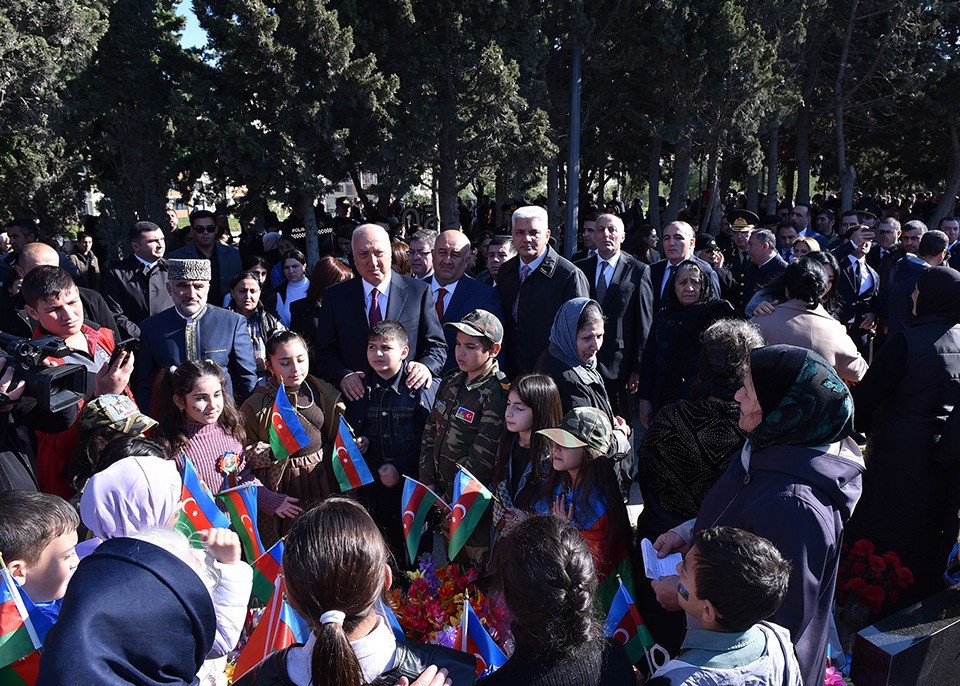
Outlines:
{"label": "navy blue headscarf of person seen from behind, bottom left", "polygon": [[210,592],[195,571],[152,543],[114,538],[77,567],[37,685],[186,686],[216,628]]}

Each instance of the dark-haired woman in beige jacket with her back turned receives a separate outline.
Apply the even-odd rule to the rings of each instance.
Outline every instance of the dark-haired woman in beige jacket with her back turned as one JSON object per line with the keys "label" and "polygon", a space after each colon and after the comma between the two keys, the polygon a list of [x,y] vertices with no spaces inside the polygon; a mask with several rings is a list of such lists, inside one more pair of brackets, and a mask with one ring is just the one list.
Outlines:
{"label": "dark-haired woman in beige jacket with her back turned", "polygon": [[867,361],[847,334],[847,328],[823,307],[826,269],[812,259],[800,259],[783,276],[786,302],[768,315],[753,318],[767,343],[797,345],[820,353],[844,381],[857,382],[867,373]]}

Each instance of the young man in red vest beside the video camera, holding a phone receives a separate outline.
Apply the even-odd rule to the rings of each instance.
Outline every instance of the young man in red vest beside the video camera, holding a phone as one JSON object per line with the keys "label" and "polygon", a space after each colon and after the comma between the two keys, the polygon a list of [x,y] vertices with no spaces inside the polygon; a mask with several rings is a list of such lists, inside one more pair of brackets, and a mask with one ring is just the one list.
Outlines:
{"label": "young man in red vest beside the video camera, holding a phone", "polygon": [[[133,354],[124,351],[111,364],[115,346],[113,331],[83,318],[83,305],[73,278],[60,267],[31,269],[21,291],[25,309],[37,322],[33,337],[56,336],[69,348],[63,357],[48,357],[49,366],[79,364],[87,370],[87,387],[94,396],[106,393],[130,394],[127,387],[133,371]],[[83,401],[78,405],[82,409]],[[77,417],[69,429],[59,433],[37,430],[37,480],[40,490],[69,500],[73,495],[63,477],[63,467],[79,440]]]}

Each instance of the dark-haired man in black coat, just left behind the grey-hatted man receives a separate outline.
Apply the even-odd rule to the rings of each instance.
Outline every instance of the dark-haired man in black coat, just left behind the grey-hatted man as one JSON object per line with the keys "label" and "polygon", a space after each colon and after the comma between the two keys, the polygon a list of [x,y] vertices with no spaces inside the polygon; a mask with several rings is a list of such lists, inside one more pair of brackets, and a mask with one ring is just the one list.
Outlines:
{"label": "dark-haired man in black coat, just left behind the grey-hatted man", "polygon": [[130,229],[133,253],[114,263],[103,275],[103,297],[113,312],[123,338],[140,338],[140,323],[173,307],[167,293],[166,243],[153,222],[137,222]]}

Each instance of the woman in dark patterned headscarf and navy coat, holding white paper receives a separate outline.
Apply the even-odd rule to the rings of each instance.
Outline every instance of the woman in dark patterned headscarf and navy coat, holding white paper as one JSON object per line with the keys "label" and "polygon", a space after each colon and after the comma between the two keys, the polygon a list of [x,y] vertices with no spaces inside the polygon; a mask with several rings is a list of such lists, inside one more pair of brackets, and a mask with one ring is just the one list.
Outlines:
{"label": "woman in dark patterned headscarf and navy coat, holding white paper", "polygon": [[[803,683],[819,684],[826,652],[843,528],[860,498],[864,470],[849,438],[853,400],[820,355],[792,345],[750,354],[737,392],[747,443],[707,494],[696,520],[654,543],[685,551],[701,529],[733,526],[773,542],[793,565],[790,589],[772,621],[790,631]],[[677,609],[677,577],[652,582]]]}

